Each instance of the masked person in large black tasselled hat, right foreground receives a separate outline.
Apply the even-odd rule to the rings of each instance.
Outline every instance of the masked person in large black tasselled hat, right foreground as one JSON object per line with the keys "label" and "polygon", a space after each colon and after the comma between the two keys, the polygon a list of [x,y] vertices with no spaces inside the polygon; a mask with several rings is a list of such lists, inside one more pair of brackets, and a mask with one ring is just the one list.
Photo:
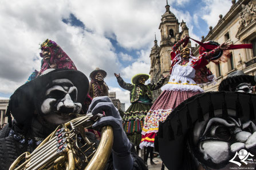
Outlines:
{"label": "masked person in large black tasselled hat, right foreground", "polygon": [[256,95],[192,96],[159,125],[159,150],[169,169],[255,169]]}

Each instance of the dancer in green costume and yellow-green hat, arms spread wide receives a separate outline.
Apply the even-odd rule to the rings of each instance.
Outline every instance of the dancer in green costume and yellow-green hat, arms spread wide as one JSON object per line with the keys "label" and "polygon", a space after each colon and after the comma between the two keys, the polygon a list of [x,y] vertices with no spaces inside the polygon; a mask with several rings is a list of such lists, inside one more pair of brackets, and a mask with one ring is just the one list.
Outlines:
{"label": "dancer in green costume and yellow-green hat, arms spread wide", "polygon": [[[152,106],[152,91],[159,89],[168,75],[163,76],[157,83],[149,83],[146,85],[145,81],[149,78],[147,74],[137,74],[133,76],[132,84],[124,82],[120,74],[115,73],[115,76],[119,85],[125,90],[130,91],[130,101],[132,104],[127,111],[124,112],[123,127],[125,133],[127,133],[128,139],[137,147],[138,152],[144,118]],[[147,152],[147,155],[148,153],[149,152]],[[153,153],[151,153],[151,155],[152,161]],[[147,157],[144,159],[147,160]]]}

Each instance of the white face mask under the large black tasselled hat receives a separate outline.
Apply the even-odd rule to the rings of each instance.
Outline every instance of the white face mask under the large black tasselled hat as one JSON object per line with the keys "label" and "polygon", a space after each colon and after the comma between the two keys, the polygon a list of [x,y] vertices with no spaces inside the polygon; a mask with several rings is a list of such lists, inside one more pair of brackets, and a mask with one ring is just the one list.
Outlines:
{"label": "white face mask under the large black tasselled hat", "polygon": [[[217,112],[220,110],[216,110],[215,114]],[[235,110],[228,112],[229,115],[235,114]],[[241,122],[240,119],[231,117],[212,118],[208,122],[197,122],[193,133],[192,140],[196,148],[194,155],[198,155],[196,159],[208,168],[215,169],[220,164],[224,169],[229,166],[236,167],[230,160],[241,149],[247,149],[255,155],[256,126],[251,121]]]}

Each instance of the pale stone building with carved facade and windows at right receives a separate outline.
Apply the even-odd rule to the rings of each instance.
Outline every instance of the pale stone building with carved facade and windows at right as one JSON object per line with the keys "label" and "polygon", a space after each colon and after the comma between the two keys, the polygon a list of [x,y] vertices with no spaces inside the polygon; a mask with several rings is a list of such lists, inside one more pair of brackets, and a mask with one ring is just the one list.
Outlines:
{"label": "pale stone building with carved facade and windows at right", "polygon": [[[253,49],[237,49],[225,51],[226,62],[209,63],[207,67],[216,75],[216,84],[204,86],[205,91],[218,91],[219,83],[235,70],[243,70],[245,74],[256,74],[256,0],[232,1],[228,13],[219,15],[219,22],[210,30],[202,42],[215,41],[219,44],[253,44]],[[198,48],[194,50],[199,55]]]}

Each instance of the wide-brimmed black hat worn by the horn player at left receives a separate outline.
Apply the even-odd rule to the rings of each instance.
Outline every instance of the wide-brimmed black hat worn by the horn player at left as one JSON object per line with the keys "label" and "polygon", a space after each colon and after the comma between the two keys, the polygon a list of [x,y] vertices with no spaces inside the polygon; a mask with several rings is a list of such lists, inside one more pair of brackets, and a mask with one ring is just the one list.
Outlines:
{"label": "wide-brimmed black hat worn by the horn player at left", "polygon": [[77,103],[83,103],[88,93],[89,80],[80,71],[56,69],[23,84],[11,95],[6,116],[13,115],[19,124],[30,123],[36,103],[43,97],[46,87],[54,79],[69,79],[77,87]]}

